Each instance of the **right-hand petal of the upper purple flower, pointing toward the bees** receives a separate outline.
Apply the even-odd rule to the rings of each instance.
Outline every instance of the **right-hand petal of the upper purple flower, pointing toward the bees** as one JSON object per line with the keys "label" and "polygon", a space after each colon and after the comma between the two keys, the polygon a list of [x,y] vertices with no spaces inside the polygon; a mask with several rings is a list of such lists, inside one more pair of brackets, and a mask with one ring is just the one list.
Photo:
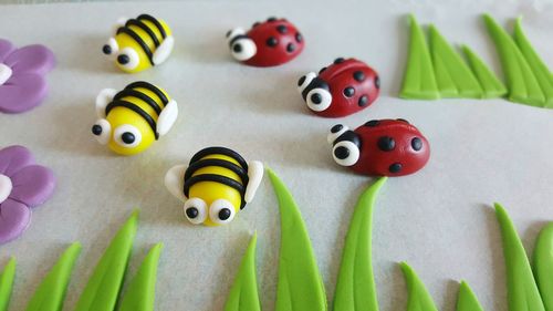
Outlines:
{"label": "right-hand petal of the upper purple flower, pointing toward the bees", "polygon": [[45,74],[54,68],[55,59],[46,46],[33,44],[13,51],[3,63],[17,73]]}

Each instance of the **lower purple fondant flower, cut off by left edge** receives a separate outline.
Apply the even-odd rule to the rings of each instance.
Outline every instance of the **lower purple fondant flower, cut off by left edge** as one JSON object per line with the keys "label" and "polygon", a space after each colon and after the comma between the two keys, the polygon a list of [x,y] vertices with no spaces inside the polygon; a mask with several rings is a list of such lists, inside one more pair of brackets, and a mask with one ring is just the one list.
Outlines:
{"label": "lower purple fondant flower, cut off by left edge", "polygon": [[52,170],[35,165],[29,149],[0,149],[0,243],[13,240],[29,227],[31,208],[43,204],[54,187]]}

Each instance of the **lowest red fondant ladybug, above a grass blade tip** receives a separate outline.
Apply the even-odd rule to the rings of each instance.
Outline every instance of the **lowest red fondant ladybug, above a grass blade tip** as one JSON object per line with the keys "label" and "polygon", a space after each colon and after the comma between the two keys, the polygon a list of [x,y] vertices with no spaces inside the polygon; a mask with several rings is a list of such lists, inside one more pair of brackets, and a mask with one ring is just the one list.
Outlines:
{"label": "lowest red fondant ladybug, above a grass blade tip", "polygon": [[422,168],[430,145],[407,121],[373,120],[349,131],[337,124],[327,136],[334,160],[369,176],[403,176]]}

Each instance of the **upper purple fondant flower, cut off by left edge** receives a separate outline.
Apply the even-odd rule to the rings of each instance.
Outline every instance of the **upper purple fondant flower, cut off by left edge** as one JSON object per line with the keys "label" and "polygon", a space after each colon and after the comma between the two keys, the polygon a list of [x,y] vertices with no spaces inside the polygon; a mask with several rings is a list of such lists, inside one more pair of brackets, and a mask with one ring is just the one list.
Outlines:
{"label": "upper purple fondant flower, cut off by left edge", "polygon": [[54,54],[46,46],[15,49],[0,39],[0,112],[21,113],[38,106],[48,93],[44,75],[54,63]]}

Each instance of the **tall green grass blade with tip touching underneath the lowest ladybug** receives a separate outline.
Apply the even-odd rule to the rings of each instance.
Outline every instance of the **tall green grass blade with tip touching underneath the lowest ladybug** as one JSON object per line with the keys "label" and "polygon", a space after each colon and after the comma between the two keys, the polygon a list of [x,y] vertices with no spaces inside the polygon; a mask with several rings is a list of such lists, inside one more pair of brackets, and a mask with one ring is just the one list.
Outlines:
{"label": "tall green grass blade with tip touching underneath the lowest ladybug", "polygon": [[378,178],[355,206],[334,293],[334,311],[378,311],[372,258],[373,210],[385,182],[386,177]]}

